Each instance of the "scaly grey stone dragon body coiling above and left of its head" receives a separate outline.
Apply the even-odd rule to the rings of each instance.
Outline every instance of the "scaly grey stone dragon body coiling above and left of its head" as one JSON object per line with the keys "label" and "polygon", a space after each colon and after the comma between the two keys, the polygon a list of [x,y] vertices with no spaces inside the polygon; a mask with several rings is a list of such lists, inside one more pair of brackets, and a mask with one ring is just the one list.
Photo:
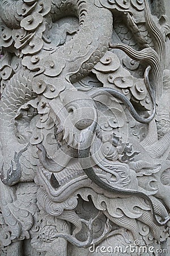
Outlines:
{"label": "scaly grey stone dragon body coiling above and left of its head", "polygon": [[[23,3],[23,1],[1,1],[0,16],[7,27],[20,27],[22,16],[19,16],[17,11],[21,3]],[[50,15],[53,20],[65,16],[67,12],[71,12],[79,18],[79,30],[74,35],[74,38],[64,46],[59,47],[59,49],[50,56],[54,63],[56,63],[58,56],[62,59],[61,62],[65,63],[63,68],[61,68],[61,74],[57,77],[58,84],[63,83],[65,87],[72,87],[70,80],[79,80],[81,77],[87,75],[107,51],[112,35],[112,13],[107,9],[96,7],[94,2],[90,0],[59,0],[52,1],[52,3],[49,1],[49,4],[51,5]],[[102,27],[99,26],[100,20],[103,20]],[[91,24],[91,26],[89,26],[89,24]],[[82,44],[82,42],[84,43]],[[41,51],[43,51],[43,49]],[[57,65],[61,65],[61,63],[57,63]],[[16,139],[14,119],[18,109],[31,100],[32,97],[27,82],[23,82],[22,80],[23,78],[20,74],[18,76],[16,74],[14,78],[12,77],[6,89],[3,91],[1,98],[0,133],[3,151],[3,171],[1,179],[6,185],[16,184],[20,179],[20,172],[22,170],[20,164],[18,162],[16,163],[16,159],[19,161],[16,154],[23,151],[23,145],[19,144]],[[48,76],[46,76],[46,81],[48,81]],[[23,85],[25,88],[23,88]],[[21,91],[22,95],[25,93],[23,98],[19,95]],[[15,104],[15,102],[18,102],[18,104]],[[8,144],[6,144],[7,141]],[[13,163],[19,168],[14,170]]]}

